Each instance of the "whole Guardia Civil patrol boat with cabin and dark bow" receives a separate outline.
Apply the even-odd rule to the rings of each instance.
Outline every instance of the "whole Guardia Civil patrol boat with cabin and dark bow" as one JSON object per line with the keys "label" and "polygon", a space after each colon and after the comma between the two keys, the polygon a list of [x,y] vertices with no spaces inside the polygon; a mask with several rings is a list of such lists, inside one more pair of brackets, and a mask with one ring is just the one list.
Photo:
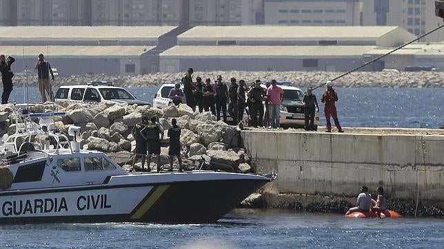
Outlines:
{"label": "whole Guardia Civil patrol boat with cabin and dark bow", "polygon": [[[214,222],[276,177],[128,173],[105,153],[80,149],[75,140],[38,127],[15,133],[3,144],[0,224]],[[69,129],[74,138],[79,132],[79,127]]]}

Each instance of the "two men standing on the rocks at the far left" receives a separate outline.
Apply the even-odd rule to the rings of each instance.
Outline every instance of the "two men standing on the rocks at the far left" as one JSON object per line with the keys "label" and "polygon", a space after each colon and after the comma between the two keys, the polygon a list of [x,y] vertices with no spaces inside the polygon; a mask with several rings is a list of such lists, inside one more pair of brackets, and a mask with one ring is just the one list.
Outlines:
{"label": "two men standing on the rocks at the far left", "polygon": [[[0,72],[1,72],[1,82],[3,83],[3,94],[1,94],[1,104],[8,104],[9,96],[12,92],[12,77],[14,73],[11,71],[11,65],[14,63],[15,59],[12,56],[6,56],[4,54],[0,55]],[[34,69],[37,70],[39,91],[41,94],[41,100],[46,102],[46,94],[50,96],[50,100],[54,101],[54,93],[52,92],[51,80],[54,81],[54,72],[52,72],[51,65],[48,61],[45,61],[43,54],[39,54],[37,62],[34,65]]]}

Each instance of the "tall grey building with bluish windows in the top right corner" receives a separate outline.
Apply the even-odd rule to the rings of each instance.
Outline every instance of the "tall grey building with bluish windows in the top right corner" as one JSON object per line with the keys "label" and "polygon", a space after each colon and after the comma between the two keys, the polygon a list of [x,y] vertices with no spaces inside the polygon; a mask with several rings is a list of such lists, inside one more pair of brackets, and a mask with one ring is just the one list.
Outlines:
{"label": "tall grey building with bluish windows in the top right corner", "polygon": [[[363,1],[363,25],[398,25],[421,36],[442,23],[442,19],[434,15],[431,0]],[[444,41],[444,33],[432,33],[421,41]]]}

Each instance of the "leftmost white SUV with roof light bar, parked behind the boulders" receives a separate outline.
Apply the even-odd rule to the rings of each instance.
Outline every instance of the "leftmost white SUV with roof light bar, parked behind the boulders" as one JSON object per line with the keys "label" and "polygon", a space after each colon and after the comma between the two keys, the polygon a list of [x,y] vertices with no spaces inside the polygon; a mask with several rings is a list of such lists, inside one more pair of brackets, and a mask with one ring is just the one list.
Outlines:
{"label": "leftmost white SUV with roof light bar, parked behind the boulders", "polygon": [[114,87],[114,84],[110,81],[90,81],[85,85],[61,86],[55,94],[55,102],[151,105],[150,102],[137,100],[129,91],[122,87]]}

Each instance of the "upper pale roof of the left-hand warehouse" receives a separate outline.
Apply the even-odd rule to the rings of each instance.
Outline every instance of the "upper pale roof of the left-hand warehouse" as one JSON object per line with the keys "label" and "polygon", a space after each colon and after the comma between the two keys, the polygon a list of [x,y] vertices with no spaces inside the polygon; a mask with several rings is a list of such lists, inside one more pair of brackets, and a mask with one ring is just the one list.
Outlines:
{"label": "upper pale roof of the left-hand warehouse", "polygon": [[0,41],[157,40],[174,26],[13,26],[0,27]]}

